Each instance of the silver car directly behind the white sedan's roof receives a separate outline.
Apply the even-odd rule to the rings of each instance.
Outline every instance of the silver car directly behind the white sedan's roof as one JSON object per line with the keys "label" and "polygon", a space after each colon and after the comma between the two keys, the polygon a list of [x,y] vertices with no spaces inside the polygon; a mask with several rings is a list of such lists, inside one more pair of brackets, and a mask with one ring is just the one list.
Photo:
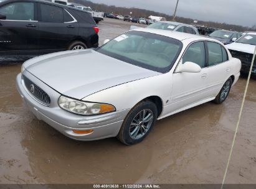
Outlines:
{"label": "silver car directly behind the white sedan's roof", "polygon": [[171,30],[176,32],[184,32],[187,34],[199,35],[199,32],[196,29],[196,27],[188,24],[183,24],[180,22],[168,22],[168,21],[154,22],[153,24],[148,25],[148,28]]}

